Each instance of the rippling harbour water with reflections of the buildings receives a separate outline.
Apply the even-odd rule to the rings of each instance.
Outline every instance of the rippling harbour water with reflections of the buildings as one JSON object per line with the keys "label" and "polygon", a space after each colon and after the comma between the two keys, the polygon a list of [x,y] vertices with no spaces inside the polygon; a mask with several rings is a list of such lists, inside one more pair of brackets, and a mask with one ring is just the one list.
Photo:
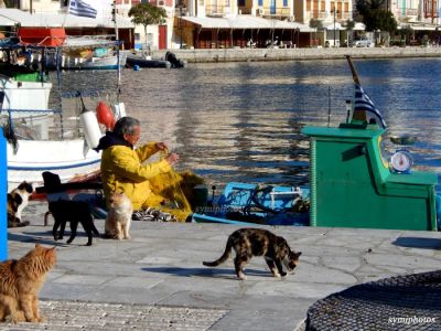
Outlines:
{"label": "rippling harbour water with reflections of the buildings", "polygon": [[[441,173],[441,60],[356,61],[355,66],[385,117],[387,135],[417,136],[410,150],[418,168]],[[115,77],[67,73],[65,82],[111,89]],[[166,141],[181,156],[180,169],[193,169],[212,183],[301,184],[308,181],[309,141],[300,129],[325,126],[330,109],[331,126],[337,126],[353,92],[344,60],[227,63],[126,70],[121,99],[142,121],[141,139]]]}

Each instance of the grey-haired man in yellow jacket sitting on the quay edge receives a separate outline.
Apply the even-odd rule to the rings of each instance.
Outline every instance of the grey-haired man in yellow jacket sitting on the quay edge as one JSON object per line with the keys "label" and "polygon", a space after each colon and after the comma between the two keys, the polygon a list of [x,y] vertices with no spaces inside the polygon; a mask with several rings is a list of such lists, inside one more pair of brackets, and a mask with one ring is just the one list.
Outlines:
{"label": "grey-haired man in yellow jacket sitting on the quay edge", "polygon": [[164,200],[151,191],[149,180],[172,171],[179,156],[171,153],[161,161],[143,164],[151,156],[168,147],[164,142],[149,142],[135,148],[140,134],[138,119],[122,117],[114,130],[107,131],[99,140],[96,150],[103,150],[101,180],[107,207],[114,191],[123,192],[131,200],[135,211],[158,207]]}

